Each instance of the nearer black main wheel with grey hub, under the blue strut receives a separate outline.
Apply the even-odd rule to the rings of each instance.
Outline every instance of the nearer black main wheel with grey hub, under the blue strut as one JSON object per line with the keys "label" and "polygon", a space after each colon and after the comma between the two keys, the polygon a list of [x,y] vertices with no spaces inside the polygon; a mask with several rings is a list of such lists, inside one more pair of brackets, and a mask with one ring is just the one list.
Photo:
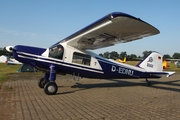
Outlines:
{"label": "nearer black main wheel with grey hub, under the blue strut", "polygon": [[58,86],[56,85],[55,82],[48,82],[46,83],[46,85],[44,86],[44,92],[47,95],[55,95],[56,92],[58,90]]}

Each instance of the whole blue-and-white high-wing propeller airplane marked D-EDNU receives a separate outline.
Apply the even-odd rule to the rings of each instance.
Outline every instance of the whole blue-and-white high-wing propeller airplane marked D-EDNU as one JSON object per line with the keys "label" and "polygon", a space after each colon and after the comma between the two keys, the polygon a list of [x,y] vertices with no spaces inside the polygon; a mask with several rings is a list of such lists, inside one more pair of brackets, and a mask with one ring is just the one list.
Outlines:
{"label": "whole blue-and-white high-wing propeller airplane marked D-EDNU", "polygon": [[113,12],[49,48],[7,46],[16,60],[44,71],[38,86],[47,95],[58,91],[56,74],[71,74],[97,79],[132,79],[167,77],[175,72],[163,71],[162,55],[152,52],[136,66],[108,60],[92,50],[156,35],[159,30],[149,23],[123,12]]}

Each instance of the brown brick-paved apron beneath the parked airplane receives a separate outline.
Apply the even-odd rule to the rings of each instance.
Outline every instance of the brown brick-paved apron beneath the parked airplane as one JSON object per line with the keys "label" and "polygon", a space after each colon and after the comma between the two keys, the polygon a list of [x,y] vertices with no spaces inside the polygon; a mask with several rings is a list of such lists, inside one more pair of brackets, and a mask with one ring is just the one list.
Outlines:
{"label": "brown brick-paved apron beneath the parked airplane", "polygon": [[12,74],[0,89],[0,120],[180,120],[180,74],[169,78],[100,80],[58,76],[46,95],[41,75]]}

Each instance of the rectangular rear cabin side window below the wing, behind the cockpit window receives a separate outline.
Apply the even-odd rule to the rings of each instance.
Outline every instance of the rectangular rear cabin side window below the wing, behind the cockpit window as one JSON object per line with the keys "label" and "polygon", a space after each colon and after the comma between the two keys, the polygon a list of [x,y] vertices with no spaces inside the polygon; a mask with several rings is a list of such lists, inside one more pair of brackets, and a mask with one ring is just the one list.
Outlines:
{"label": "rectangular rear cabin side window below the wing, behind the cockpit window", "polygon": [[91,56],[86,55],[86,54],[82,54],[82,53],[74,52],[72,62],[90,66]]}

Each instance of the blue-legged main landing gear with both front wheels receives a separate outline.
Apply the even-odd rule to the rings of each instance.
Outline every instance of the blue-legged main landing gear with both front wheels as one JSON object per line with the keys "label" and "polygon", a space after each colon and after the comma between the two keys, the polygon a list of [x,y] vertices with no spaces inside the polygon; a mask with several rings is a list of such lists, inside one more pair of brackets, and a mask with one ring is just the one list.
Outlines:
{"label": "blue-legged main landing gear with both front wheels", "polygon": [[47,95],[55,95],[58,91],[58,86],[55,80],[56,80],[55,66],[51,65],[50,72],[46,72],[44,74],[44,77],[38,81],[38,86],[40,88],[44,88],[44,92]]}

